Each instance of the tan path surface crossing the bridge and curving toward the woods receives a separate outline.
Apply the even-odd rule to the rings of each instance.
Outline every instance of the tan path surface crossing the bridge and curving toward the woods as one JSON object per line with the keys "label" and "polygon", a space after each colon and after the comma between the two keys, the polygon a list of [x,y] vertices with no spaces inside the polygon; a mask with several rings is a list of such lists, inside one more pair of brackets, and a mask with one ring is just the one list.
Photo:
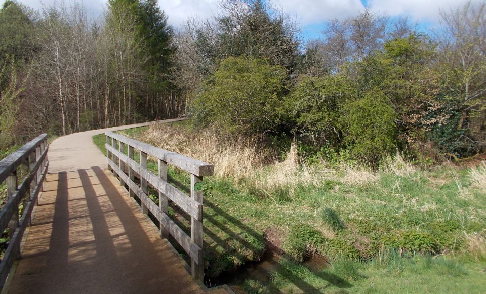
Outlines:
{"label": "tan path surface crossing the bridge and curving toward the woods", "polygon": [[50,174],[9,292],[202,292],[106,170],[106,159],[92,141],[105,131],[147,124],[76,133],[51,143]]}

